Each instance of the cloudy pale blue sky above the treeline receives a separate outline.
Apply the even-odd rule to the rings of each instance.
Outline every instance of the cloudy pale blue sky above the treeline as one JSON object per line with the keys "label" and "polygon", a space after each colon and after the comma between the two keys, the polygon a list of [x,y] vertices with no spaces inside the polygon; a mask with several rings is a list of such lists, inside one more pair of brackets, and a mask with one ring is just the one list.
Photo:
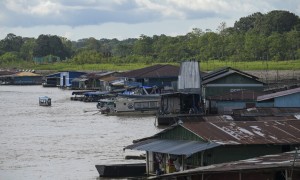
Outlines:
{"label": "cloudy pale blue sky above the treeline", "polygon": [[286,10],[300,16],[299,0],[0,0],[0,39],[8,33],[124,40],[141,35],[216,31],[241,17]]}

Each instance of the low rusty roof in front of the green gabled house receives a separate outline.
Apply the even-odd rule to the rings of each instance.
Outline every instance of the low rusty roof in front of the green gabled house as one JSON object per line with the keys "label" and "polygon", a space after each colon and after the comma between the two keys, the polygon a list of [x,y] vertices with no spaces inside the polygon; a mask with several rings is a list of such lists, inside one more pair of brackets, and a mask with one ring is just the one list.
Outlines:
{"label": "low rusty roof in front of the green gabled house", "polygon": [[238,101],[238,100],[256,100],[257,96],[261,96],[264,93],[256,92],[251,90],[241,90],[237,92],[231,92],[222,94],[219,96],[209,96],[209,100],[218,100],[218,101]]}

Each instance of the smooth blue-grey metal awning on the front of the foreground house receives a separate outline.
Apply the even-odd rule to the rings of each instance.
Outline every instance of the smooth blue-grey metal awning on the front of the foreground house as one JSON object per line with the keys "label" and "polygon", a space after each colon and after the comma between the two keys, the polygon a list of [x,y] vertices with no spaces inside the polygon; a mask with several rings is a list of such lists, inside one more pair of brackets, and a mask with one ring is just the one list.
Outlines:
{"label": "smooth blue-grey metal awning on the front of the foreground house", "polygon": [[174,155],[191,155],[206,149],[220,146],[214,142],[183,141],[167,139],[148,139],[129,145],[124,149],[151,151]]}

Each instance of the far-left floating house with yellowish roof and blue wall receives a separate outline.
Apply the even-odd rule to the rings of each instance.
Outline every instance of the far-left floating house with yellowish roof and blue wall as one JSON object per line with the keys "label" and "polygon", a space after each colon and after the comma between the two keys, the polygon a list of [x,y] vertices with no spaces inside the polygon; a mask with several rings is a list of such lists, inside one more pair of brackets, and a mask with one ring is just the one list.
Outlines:
{"label": "far-left floating house with yellowish roof and blue wall", "polygon": [[32,72],[17,72],[0,76],[2,84],[9,85],[40,85],[43,76]]}

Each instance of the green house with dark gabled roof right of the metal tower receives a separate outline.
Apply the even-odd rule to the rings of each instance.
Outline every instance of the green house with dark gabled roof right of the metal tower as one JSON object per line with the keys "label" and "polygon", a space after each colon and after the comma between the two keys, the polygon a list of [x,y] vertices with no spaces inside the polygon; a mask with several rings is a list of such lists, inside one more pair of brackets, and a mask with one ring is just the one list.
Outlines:
{"label": "green house with dark gabled roof right of the metal tower", "polygon": [[[253,106],[253,100],[242,100],[245,94],[244,92],[246,92],[246,90],[252,92],[262,92],[263,88],[264,83],[259,81],[258,77],[231,67],[225,67],[208,73],[202,77],[202,98],[204,101],[205,112],[230,113],[231,109],[244,106],[244,104],[248,107]],[[238,91],[242,92],[235,93]],[[236,96],[235,99],[240,96],[242,99],[240,98],[240,103],[237,103],[237,101],[220,101],[220,98],[228,95],[231,97]],[[249,95],[251,96],[251,93]],[[253,95],[257,96],[257,94]],[[216,104],[217,102],[218,104]],[[228,106],[226,106],[226,103]]]}

